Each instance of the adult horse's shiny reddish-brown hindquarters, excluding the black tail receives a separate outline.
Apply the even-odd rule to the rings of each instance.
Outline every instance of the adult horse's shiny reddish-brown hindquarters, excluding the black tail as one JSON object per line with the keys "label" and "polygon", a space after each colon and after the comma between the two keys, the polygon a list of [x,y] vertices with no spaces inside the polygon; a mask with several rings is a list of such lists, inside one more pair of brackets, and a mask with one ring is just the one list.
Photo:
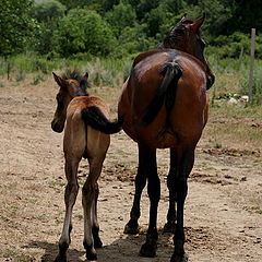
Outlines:
{"label": "adult horse's shiny reddish-brown hindquarters, excluding the black tail", "polygon": [[[140,122],[144,110],[153,100],[164,75],[160,69],[165,63],[176,62],[182,75],[177,82],[176,100],[169,119],[165,103],[153,121],[145,127]],[[206,80],[205,69],[190,55],[171,50],[156,50],[139,56],[133,64],[130,79],[122,91],[119,112],[124,112],[123,130],[138,142],[154,147],[176,147],[182,143],[198,143],[206,122]],[[124,108],[129,108],[124,109]]]}

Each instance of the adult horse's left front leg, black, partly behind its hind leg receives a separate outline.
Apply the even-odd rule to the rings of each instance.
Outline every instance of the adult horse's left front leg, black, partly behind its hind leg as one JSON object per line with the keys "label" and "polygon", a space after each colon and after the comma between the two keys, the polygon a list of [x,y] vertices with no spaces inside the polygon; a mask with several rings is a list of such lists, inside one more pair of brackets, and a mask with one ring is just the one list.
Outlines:
{"label": "adult horse's left front leg, black, partly behind its hind leg", "polygon": [[139,145],[139,168],[135,176],[135,193],[133,200],[133,206],[130,212],[130,221],[124,227],[124,234],[138,234],[139,233],[139,218],[140,218],[140,200],[142,191],[146,183],[146,167],[144,166],[143,152]]}

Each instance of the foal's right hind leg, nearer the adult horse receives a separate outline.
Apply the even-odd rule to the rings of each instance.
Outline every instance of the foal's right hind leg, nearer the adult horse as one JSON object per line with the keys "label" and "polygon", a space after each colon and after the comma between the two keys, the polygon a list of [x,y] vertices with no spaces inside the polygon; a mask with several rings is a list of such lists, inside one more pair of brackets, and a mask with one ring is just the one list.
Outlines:
{"label": "foal's right hind leg, nearer the adult horse", "polygon": [[[94,212],[96,210],[96,198],[97,198],[97,179],[100,176],[102,165],[104,158],[90,159],[90,175],[86,182],[83,186],[83,198],[82,204],[84,209],[84,248],[86,250],[87,260],[97,260],[97,254],[94,246],[94,237],[96,237],[96,243],[98,242],[98,227],[94,227]],[[94,229],[95,228],[95,229]],[[94,231],[97,230],[97,231]],[[100,242],[102,243],[102,242]]]}

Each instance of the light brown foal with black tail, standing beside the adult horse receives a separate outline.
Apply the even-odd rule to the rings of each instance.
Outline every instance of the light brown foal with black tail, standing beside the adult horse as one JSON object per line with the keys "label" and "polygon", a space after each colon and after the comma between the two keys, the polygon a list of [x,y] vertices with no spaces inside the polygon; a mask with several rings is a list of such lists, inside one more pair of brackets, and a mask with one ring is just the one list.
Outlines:
{"label": "light brown foal with black tail, standing beside the adult horse", "polygon": [[90,175],[82,189],[83,243],[86,249],[86,258],[96,260],[95,248],[102,247],[96,212],[97,179],[100,176],[103,162],[110,143],[109,134],[120,131],[121,121],[110,122],[107,119],[108,106],[106,102],[88,95],[87,74],[79,76],[72,73],[67,78],[60,78],[53,73],[53,78],[60,90],[57,94],[57,110],[51,128],[56,132],[62,132],[64,127],[64,171],[68,180],[64,192],[66,217],[56,261],[67,261],[67,250],[72,230],[72,210],[79,192],[78,168],[82,157],[87,158],[90,163]]}

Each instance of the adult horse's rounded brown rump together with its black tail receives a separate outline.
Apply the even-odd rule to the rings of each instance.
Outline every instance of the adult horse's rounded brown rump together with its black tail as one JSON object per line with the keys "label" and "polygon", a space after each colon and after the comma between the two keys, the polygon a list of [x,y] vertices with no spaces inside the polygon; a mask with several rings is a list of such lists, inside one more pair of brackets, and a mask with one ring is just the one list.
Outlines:
{"label": "adult horse's rounded brown rump together with its black tail", "polygon": [[204,127],[205,84],[203,64],[190,55],[170,49],[143,53],[123,90],[130,104],[119,103],[119,111],[131,108],[124,131],[155,147],[175,147],[178,136],[196,141]]}

